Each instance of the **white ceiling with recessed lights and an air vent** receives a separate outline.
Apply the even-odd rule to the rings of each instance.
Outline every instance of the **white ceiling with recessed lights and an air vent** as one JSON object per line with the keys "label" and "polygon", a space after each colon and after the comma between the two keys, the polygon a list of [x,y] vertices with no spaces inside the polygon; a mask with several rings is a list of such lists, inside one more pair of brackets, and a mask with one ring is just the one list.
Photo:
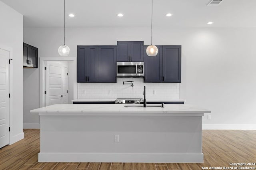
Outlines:
{"label": "white ceiling with recessed lights and an air vent", "polygon": [[[154,0],[153,27],[256,27],[256,0]],[[2,0],[25,27],[62,27],[64,0]],[[68,17],[74,13],[74,18]],[[117,17],[123,13],[122,18]],[[171,17],[165,14],[171,13]],[[212,21],[214,24],[207,25]],[[66,0],[67,27],[150,26],[151,0]]]}

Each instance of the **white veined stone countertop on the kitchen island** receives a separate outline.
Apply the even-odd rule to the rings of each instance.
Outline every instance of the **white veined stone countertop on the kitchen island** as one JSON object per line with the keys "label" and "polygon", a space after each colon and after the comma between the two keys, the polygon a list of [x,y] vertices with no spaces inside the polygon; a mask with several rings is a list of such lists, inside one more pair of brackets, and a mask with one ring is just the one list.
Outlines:
{"label": "white veined stone countertop on the kitchen island", "polygon": [[[124,107],[124,105],[116,104],[58,104],[39,109],[31,110],[31,113],[39,113],[39,115],[112,115],[112,116],[163,116],[163,115],[178,115],[178,116],[203,116],[204,113],[211,113],[211,111],[196,107],[193,105],[164,105],[162,107],[150,107],[148,104],[144,107]],[[127,104],[129,105],[129,104]],[[131,105],[131,104],[130,104]],[[139,105],[136,105],[139,106]],[[142,105],[140,105],[142,106]]]}

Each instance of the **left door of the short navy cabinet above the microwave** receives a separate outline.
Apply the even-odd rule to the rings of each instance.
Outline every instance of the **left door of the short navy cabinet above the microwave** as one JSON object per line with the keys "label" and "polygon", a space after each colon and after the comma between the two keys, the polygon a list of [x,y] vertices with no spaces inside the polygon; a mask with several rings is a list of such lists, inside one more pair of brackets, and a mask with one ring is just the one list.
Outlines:
{"label": "left door of the short navy cabinet above the microwave", "polygon": [[130,42],[117,42],[117,61],[129,62],[130,61]]}

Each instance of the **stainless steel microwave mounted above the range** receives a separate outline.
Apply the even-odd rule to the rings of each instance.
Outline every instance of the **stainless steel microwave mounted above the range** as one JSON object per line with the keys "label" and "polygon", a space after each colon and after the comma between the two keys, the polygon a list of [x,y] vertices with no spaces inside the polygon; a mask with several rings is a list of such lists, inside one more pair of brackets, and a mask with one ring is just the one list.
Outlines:
{"label": "stainless steel microwave mounted above the range", "polygon": [[144,62],[116,62],[117,77],[144,77]]}

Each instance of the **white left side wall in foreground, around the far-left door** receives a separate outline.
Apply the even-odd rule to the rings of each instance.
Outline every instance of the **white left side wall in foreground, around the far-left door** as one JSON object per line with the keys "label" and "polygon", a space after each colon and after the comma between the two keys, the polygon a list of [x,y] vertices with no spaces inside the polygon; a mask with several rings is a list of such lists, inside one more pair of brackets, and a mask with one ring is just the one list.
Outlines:
{"label": "white left side wall in foreground, around the far-left door", "polygon": [[23,53],[23,16],[0,1],[0,44],[11,47],[13,65],[12,119],[10,119],[10,141],[14,143],[24,138],[22,129],[22,53]]}

